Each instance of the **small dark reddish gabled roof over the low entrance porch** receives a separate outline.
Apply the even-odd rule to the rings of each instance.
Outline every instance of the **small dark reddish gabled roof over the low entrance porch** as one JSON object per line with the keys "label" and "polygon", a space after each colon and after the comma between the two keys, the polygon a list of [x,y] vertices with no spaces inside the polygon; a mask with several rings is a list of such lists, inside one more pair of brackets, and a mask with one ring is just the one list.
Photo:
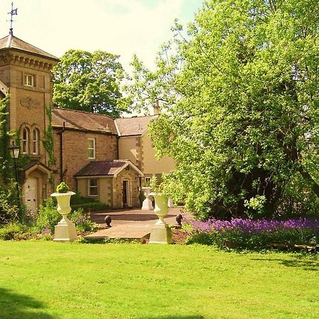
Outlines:
{"label": "small dark reddish gabled roof over the low entrance porch", "polygon": [[80,169],[74,177],[113,176],[121,172],[128,164],[140,172],[128,159],[114,159],[113,161],[89,162],[89,164]]}

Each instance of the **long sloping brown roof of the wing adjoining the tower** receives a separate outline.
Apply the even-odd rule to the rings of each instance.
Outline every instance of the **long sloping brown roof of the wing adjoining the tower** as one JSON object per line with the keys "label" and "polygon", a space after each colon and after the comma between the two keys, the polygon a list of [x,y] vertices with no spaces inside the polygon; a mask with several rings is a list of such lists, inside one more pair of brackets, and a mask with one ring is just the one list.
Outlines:
{"label": "long sloping brown roof of the wing adjoining the tower", "polygon": [[72,130],[89,130],[98,133],[117,134],[114,119],[110,116],[69,110],[67,108],[52,108],[53,128],[62,128],[63,122],[65,122],[65,128]]}

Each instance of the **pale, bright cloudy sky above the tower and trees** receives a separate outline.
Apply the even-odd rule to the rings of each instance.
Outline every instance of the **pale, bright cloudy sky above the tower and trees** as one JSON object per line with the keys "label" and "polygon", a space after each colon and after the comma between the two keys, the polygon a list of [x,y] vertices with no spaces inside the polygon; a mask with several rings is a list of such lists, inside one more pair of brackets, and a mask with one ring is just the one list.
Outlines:
{"label": "pale, bright cloudy sky above the tower and trees", "polygon": [[[0,38],[9,34],[11,0],[0,2]],[[129,72],[133,54],[155,65],[160,45],[172,38],[174,19],[194,20],[202,0],[16,0],[13,35],[61,57],[69,49],[121,55]]]}

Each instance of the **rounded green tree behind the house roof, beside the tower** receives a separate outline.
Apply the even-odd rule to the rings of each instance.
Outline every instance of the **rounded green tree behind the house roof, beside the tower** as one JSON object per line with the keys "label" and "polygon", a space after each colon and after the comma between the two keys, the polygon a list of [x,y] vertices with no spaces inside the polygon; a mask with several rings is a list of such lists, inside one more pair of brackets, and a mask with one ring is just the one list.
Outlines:
{"label": "rounded green tree behind the house roof, beside the tower", "polygon": [[52,72],[56,106],[114,117],[123,111],[118,107],[123,77],[118,55],[101,50],[68,50]]}

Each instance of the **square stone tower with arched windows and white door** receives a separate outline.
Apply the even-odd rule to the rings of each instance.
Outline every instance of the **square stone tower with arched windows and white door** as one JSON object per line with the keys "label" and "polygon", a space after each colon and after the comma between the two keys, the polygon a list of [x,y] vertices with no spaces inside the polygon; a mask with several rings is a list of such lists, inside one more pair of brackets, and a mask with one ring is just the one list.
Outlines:
{"label": "square stone tower with arched windows and white door", "polygon": [[57,57],[13,36],[0,39],[0,97],[10,94],[9,130],[18,132],[23,167],[23,201],[31,211],[50,189],[49,153],[43,145],[52,107],[51,69]]}

